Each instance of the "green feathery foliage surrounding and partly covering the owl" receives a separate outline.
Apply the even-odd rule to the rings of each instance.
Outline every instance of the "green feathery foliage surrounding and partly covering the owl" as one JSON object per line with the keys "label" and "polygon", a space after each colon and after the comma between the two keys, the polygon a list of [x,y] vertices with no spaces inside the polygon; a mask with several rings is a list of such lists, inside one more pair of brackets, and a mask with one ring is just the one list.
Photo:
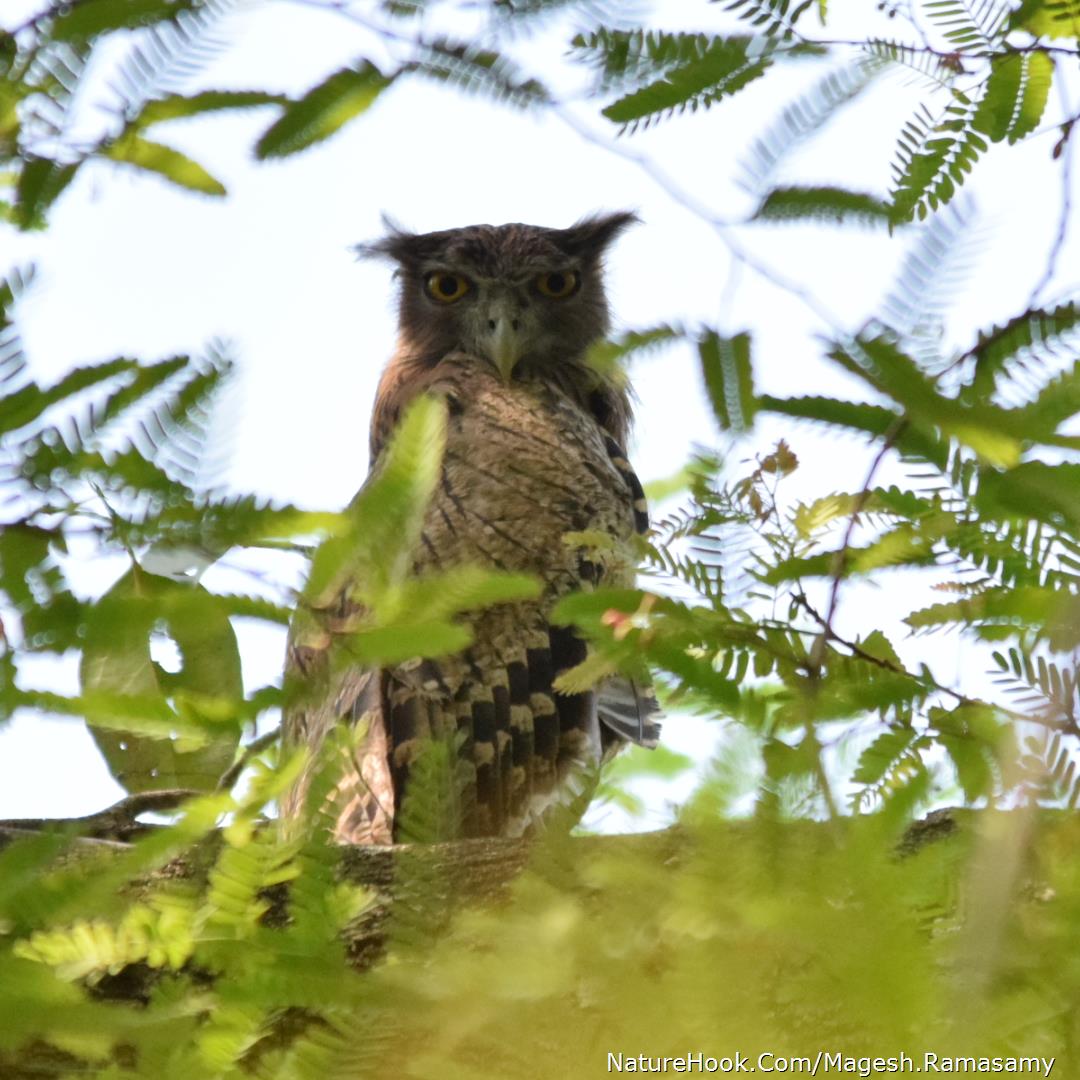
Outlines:
{"label": "green feathery foliage surrounding and partly covering the owl", "polygon": [[[252,151],[270,160],[363,122],[414,78],[564,110],[511,48],[548,16],[549,29],[566,29],[597,123],[623,138],[690,123],[673,118],[811,67],[815,81],[740,158],[746,219],[703,216],[725,235],[730,225],[746,234],[778,222],[910,226],[909,245],[882,310],[822,342],[848,396],[764,391],[752,329],[691,327],[680,312],[592,351],[610,376],[648,350],[694,349],[716,446],[669,485],[681,502],[665,502],[642,541],[639,588],[559,605],[556,617],[592,649],[564,685],[648,666],[672,713],[724,723],[725,748],[676,834],[608,848],[555,824],[499,905],[451,917],[449,883],[406,853],[404,886],[437,899],[438,917],[400,904],[388,956],[363,973],[345,971],[341,931],[381,918],[378,897],[341,882],[322,820],[362,732],[326,741],[302,821],[268,821],[305,761],[251,734],[295,688],[245,692],[233,622],[318,629],[360,566],[361,613],[342,627],[340,662],[396,661],[462,647],[462,612],[531,595],[536,583],[478,567],[411,573],[440,471],[436,403],[402,419],[345,512],[229,494],[212,436],[230,350],[106,359],[40,381],[17,320],[33,273],[10,269],[0,283],[0,726],[16,710],[81,719],[136,805],[162,787],[183,788],[186,801],[119,852],[72,845],[78,823],[0,850],[0,1072],[21,1075],[19,1055],[42,1043],[51,1050],[36,1068],[44,1059],[57,1076],[108,1080],[535,1076],[538,1062],[545,1075],[576,1076],[608,1067],[608,1051],[699,1049],[772,1062],[834,1051],[853,1063],[846,1071],[883,1048],[975,1048],[1076,1067],[1080,982],[1062,957],[1080,918],[1076,825],[1063,814],[1080,804],[1080,436],[1070,427],[1080,300],[1043,302],[1037,289],[1021,312],[967,327],[959,347],[940,333],[973,232],[958,199],[969,176],[1045,130],[1067,170],[1076,118],[1052,111],[1051,91],[1075,64],[1076,4],[886,4],[903,27],[895,39],[843,42],[829,37],[824,0],[727,0],[717,6],[730,26],[711,33],[646,28],[622,4],[492,0],[480,5],[484,31],[461,38],[429,36],[422,17],[455,0],[345,0],[322,6],[395,48],[357,55],[295,96],[204,84],[233,40],[231,6],[46,3],[0,36],[3,228],[46,228],[65,191],[105,162],[221,198],[213,163],[150,132],[177,120],[266,113]],[[102,65],[107,79],[94,75]],[[918,96],[897,133],[891,190],[785,178],[799,147],[891,71],[914,76]],[[739,462],[732,450],[768,417],[784,418],[785,438]],[[812,496],[789,494],[806,471],[807,426],[865,448],[861,486],[814,477]],[[252,595],[200,582],[245,549],[301,559],[302,590],[278,564],[272,586]],[[116,569],[102,595],[75,584],[89,559]],[[902,634],[853,625],[843,602],[870,581],[899,581],[904,597],[910,585],[900,625],[916,640],[967,643],[993,683],[958,685],[937,654],[913,659]],[[926,584],[931,599],[917,595]],[[167,643],[175,670],[160,659]],[[35,684],[36,660],[73,653],[78,692]],[[407,816],[420,843],[453,835],[456,811],[442,796],[454,753],[434,745],[416,765],[428,782],[417,782]],[[636,784],[689,765],[670,751],[627,755],[598,792],[633,809]],[[895,858],[912,820],[949,801],[982,827]],[[194,869],[172,872],[181,865]]]}

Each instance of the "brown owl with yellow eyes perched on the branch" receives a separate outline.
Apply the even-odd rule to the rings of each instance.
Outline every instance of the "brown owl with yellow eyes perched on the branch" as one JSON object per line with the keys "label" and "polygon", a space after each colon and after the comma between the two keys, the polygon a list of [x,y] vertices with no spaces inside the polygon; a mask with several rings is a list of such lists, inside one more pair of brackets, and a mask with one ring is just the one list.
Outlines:
{"label": "brown owl with yellow eyes perched on the branch", "polygon": [[[420,394],[446,403],[446,448],[420,542],[418,575],[482,566],[535,576],[539,596],[465,617],[462,652],[381,669],[327,662],[333,633],[294,624],[286,743],[319,746],[338,725],[357,742],[333,796],[342,842],[402,839],[402,808],[426,748],[450,746],[455,836],[515,836],[554,807],[579,805],[598,765],[627,742],[656,745],[659,712],[643,681],[610,677],[564,693],[558,676],[585,643],[551,615],[568,593],[633,583],[644,494],[625,457],[630,390],[586,356],[608,330],[603,261],[635,218],[566,229],[476,225],[392,231],[363,247],[396,265],[397,348],[370,428],[373,473]],[[605,542],[586,545],[586,534]],[[348,608],[345,586],[339,608]],[[313,688],[313,689],[312,689]],[[285,799],[298,812],[306,778]]]}

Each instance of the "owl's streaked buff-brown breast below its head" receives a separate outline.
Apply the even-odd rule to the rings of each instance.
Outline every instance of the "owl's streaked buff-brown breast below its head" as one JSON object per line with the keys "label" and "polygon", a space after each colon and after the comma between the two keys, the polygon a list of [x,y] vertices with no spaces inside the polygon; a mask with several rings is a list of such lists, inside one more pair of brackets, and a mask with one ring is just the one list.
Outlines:
{"label": "owl's streaked buff-brown breast below its head", "polygon": [[464,563],[540,575],[550,598],[589,579],[582,544],[567,534],[634,535],[633,492],[596,420],[556,388],[503,383],[474,365],[448,364],[435,387],[449,419],[438,489],[418,569]]}

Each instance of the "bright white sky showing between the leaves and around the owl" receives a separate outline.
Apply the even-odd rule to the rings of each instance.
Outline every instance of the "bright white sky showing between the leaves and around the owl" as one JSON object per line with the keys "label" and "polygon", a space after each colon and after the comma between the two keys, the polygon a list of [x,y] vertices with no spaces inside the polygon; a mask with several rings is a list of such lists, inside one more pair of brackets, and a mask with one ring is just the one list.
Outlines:
{"label": "bright white sky showing between the leaves and around the owl", "polygon": [[[6,0],[0,25],[13,25],[32,6]],[[900,29],[867,0],[834,0],[829,8],[829,37]],[[719,9],[672,0],[657,3],[648,21],[672,29],[730,28]],[[233,46],[191,86],[299,93],[360,55],[380,64],[390,58],[362,27],[298,5],[259,5],[225,27]],[[580,76],[567,76],[561,41],[565,36],[549,32],[517,40],[513,52],[527,70],[570,96]],[[383,214],[424,231],[478,221],[565,226],[596,210],[634,208],[643,225],[618,242],[609,260],[617,328],[680,322],[725,333],[750,329],[762,388],[842,395],[853,382],[822,359],[815,335],[828,327],[821,319],[753,271],[734,268],[716,232],[621,156],[662,163],[690,198],[738,219],[753,208],[737,178],[755,132],[821,73],[810,64],[773,69],[732,103],[617,141],[595,104],[569,108],[610,146],[586,140],[557,116],[521,113],[420,80],[401,82],[337,137],[279,163],[258,164],[249,153],[272,110],[162,125],[153,137],[202,162],[226,184],[228,199],[193,195],[121,166],[90,165],[57,205],[48,232],[0,232],[0,270],[38,264],[40,281],[19,315],[32,372],[48,381],[77,363],[117,354],[152,360],[198,351],[215,336],[229,338],[240,375],[218,422],[231,453],[227,481],[238,490],[312,509],[343,505],[367,470],[368,413],[393,347],[394,286],[388,266],[356,262],[349,247],[379,235]],[[1071,111],[1076,91],[1074,85]],[[794,156],[781,178],[883,193],[896,134],[918,97],[919,89],[901,73],[887,76]],[[1061,110],[1055,94],[1048,118]],[[89,122],[95,116],[89,110]],[[977,241],[966,253],[970,272],[948,340],[966,342],[977,327],[1026,306],[1057,228],[1054,139],[1048,134],[991,152],[968,186],[977,206]],[[1024,211],[1017,213],[1021,192]],[[735,235],[755,258],[812,291],[848,328],[880,309],[909,243],[883,230],[805,226],[758,226]],[[1074,230],[1043,298],[1075,293],[1078,285],[1080,238]],[[717,445],[688,348],[638,361],[632,374],[640,397],[632,457],[643,480],[673,473],[697,444]],[[862,487],[873,451],[854,437],[810,427],[765,420],[731,459],[747,458],[780,436],[802,461],[793,495],[809,500]],[[899,467],[880,478],[890,475],[901,476]],[[119,562],[75,568],[77,584],[87,592],[107,588],[121,571]],[[207,585],[220,584],[226,579],[215,575],[226,572],[213,569]],[[850,586],[845,598],[838,627],[852,633],[882,626],[900,636],[897,620],[918,604],[910,583],[895,573]],[[274,679],[283,633],[241,632],[248,687]],[[946,678],[961,666],[956,638],[908,640],[903,654],[944,662]],[[76,689],[73,662],[26,672],[27,681]],[[665,735],[669,745],[704,759],[715,725],[676,717]],[[87,813],[121,794],[79,723],[26,715],[0,730],[0,819]],[[678,795],[652,789],[643,824],[660,824],[664,800]]]}

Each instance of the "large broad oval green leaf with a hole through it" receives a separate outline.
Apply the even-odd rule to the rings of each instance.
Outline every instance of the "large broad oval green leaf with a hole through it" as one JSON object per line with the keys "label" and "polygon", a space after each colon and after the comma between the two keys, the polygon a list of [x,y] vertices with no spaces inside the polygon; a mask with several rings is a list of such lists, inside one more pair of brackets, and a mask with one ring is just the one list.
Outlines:
{"label": "large broad oval green leaf with a hole through it", "polygon": [[[151,660],[159,624],[180,653],[174,674]],[[211,789],[232,764],[243,718],[240,652],[225,609],[201,586],[137,566],[125,573],[87,618],[80,680],[84,697],[97,701],[96,715],[87,717],[91,734],[129,792]],[[123,699],[136,711],[133,720],[125,720]],[[178,730],[194,727],[210,741],[189,748],[183,740],[131,733],[141,716]]]}

